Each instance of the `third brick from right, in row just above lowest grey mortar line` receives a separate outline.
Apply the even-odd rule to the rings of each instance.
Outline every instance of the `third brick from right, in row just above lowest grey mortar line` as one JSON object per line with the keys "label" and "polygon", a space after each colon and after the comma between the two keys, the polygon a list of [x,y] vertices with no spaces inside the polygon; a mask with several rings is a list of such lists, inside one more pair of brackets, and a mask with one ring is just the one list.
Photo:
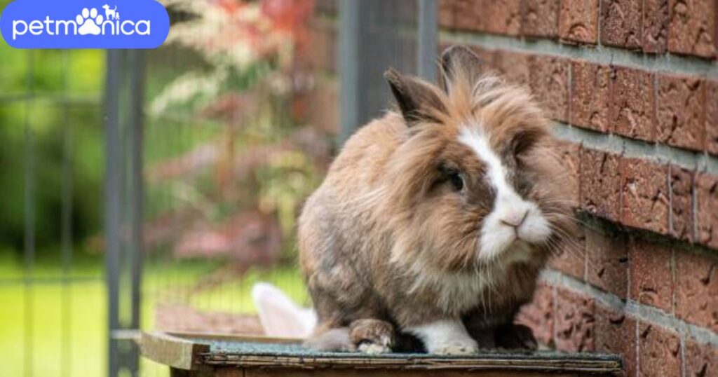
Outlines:
{"label": "third brick from right, in row just above lowest grey mortar line", "polygon": [[590,284],[621,299],[628,296],[628,239],[622,233],[586,230],[587,277]]}

